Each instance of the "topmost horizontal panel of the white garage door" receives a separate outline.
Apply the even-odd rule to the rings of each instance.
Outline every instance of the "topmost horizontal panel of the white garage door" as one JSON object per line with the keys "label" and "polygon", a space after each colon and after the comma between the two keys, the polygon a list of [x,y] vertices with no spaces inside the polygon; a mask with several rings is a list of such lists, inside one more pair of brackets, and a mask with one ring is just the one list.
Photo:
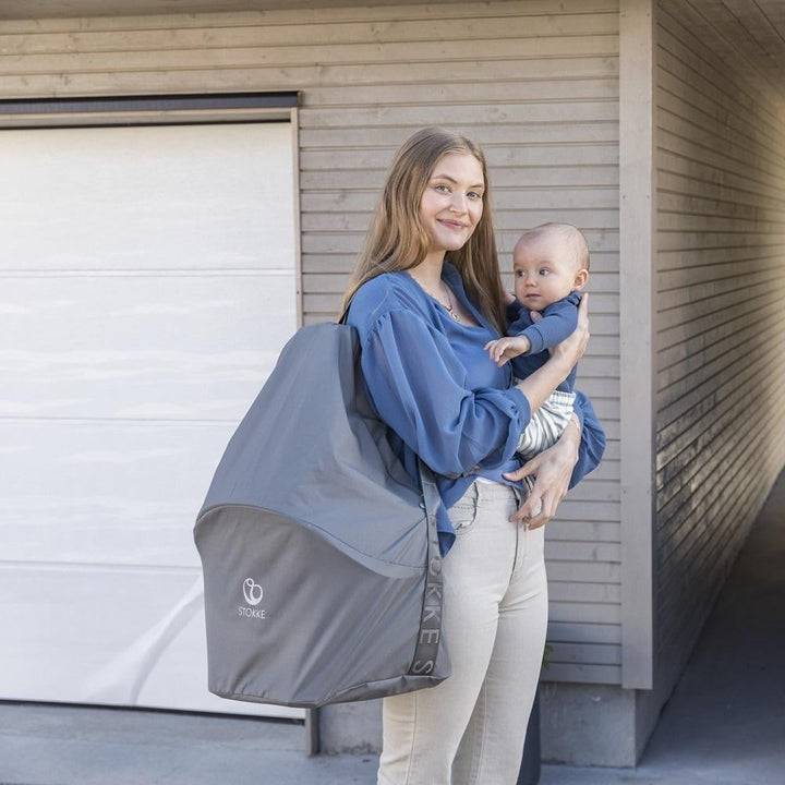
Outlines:
{"label": "topmost horizontal panel of the white garage door", "polygon": [[293,257],[288,124],[153,132],[155,144],[138,128],[3,131],[7,264],[259,269]]}

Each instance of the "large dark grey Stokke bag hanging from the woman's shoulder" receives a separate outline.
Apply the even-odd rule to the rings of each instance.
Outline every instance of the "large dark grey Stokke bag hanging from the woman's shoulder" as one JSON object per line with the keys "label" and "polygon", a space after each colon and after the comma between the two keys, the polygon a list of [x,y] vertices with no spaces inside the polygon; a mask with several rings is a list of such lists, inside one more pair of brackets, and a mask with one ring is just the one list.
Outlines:
{"label": "large dark grey Stokke bag hanging from the woman's shoulder", "polygon": [[316,706],[449,675],[439,499],[421,473],[423,492],[367,403],[355,330],[300,329],[229,442],[194,531],[212,692]]}

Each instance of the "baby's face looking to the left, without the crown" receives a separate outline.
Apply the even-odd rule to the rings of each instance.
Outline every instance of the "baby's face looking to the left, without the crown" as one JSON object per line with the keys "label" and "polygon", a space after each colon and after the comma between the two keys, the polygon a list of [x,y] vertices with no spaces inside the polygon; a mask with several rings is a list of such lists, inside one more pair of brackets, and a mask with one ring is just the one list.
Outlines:
{"label": "baby's face looking to the left, without the crown", "polygon": [[570,243],[557,235],[522,238],[512,254],[516,297],[530,311],[542,311],[582,289],[587,271],[578,266]]}

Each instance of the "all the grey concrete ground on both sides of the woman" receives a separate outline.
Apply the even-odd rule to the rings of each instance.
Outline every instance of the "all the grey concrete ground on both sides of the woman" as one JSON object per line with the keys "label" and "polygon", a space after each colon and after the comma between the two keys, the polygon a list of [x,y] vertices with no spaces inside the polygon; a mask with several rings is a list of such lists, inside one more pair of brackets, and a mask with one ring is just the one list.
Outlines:
{"label": "all the grey concrete ground on both sides of the woman", "polygon": [[[302,725],[0,703],[0,785],[373,785],[373,756],[305,757]],[[638,769],[541,785],[785,785],[785,475]]]}

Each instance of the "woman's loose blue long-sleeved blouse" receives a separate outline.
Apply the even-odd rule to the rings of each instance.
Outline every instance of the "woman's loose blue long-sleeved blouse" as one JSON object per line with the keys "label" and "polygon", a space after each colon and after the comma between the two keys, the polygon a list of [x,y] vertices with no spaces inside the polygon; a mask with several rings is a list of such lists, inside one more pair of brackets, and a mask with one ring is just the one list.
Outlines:
{"label": "woman's loose blue long-sleeved blouse", "polygon": [[[511,386],[509,363],[497,367],[485,351],[498,333],[467,297],[458,270],[445,263],[442,278],[480,326],[456,322],[407,273],[385,273],[364,283],[347,321],[360,337],[369,398],[403,467],[416,480],[419,455],[436,474],[446,554],[455,541],[447,509],[478,476],[520,487],[502,473],[521,464],[516,447],[531,409]],[[580,392],[575,411],[582,437],[570,486],[597,466],[605,449],[591,402]]]}

